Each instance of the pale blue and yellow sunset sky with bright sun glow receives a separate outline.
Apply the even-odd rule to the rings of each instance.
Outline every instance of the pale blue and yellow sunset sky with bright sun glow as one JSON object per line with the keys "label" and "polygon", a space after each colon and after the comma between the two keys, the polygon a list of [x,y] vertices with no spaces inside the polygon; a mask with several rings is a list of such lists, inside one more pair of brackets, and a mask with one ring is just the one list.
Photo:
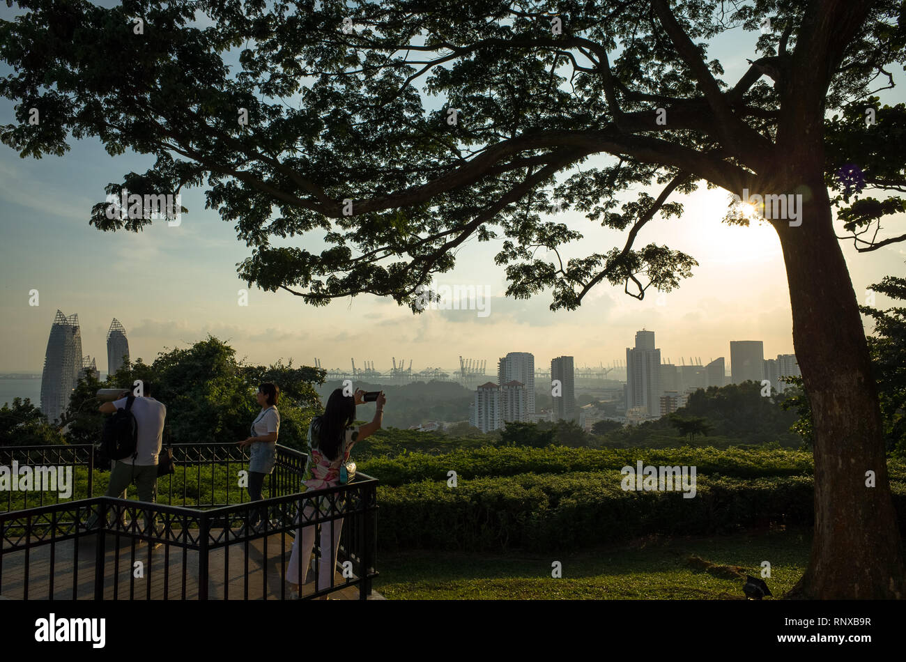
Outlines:
{"label": "pale blue and yellow sunset sky with bright sun glow", "polygon": [[[7,19],[12,11],[4,6],[0,16]],[[756,36],[737,30],[714,44],[709,53],[723,63],[724,80],[735,82],[745,71],[746,58],[755,56]],[[0,73],[7,71],[4,66]],[[887,103],[904,101],[902,86],[881,96]],[[12,121],[12,103],[0,100],[0,125]],[[207,334],[228,341],[250,362],[292,359],[312,365],[317,357],[326,369],[348,369],[354,358],[357,367],[370,360],[387,370],[391,357],[407,366],[411,360],[414,371],[453,369],[462,356],[487,360],[487,372],[494,374],[496,360],[509,351],[534,353],[538,367],[549,367],[560,355],[574,356],[577,368],[606,366],[625,359],[635,331],[642,328],[655,331],[662,359],[678,364],[680,357],[707,363],[723,356],[729,367],[729,341],[764,341],[766,358],[793,352],[776,234],[766,224],[722,224],[728,194],[720,189],[701,186],[689,197],[674,194],[670,199],[682,202],[685,214],[659,217],[642,229],[637,246],[668,245],[691,254],[699,266],[679,289],[660,295],[650,291],[641,302],[608,283],[599,284],[573,312],[550,311],[550,292],[528,301],[506,298],[504,267],[493,259],[500,242],[472,239],[459,251],[456,268],[436,277],[435,285],[475,285],[490,296],[486,312],[414,315],[371,294],[314,308],[290,293],[265,293],[254,286],[243,306],[239,291],[247,285],[236,275],[236,264],[250,249],[236,240],[231,223],[204,208],[202,188],[184,193],[188,214],[178,226],[155,223],[138,235],[102,233],[88,219],[92,205],[104,200],[104,187],[130,170],[143,172],[153,160],[133,153],[111,158],[97,139],[71,139],[70,144],[63,158],[40,160],[19,158],[0,145],[0,372],[41,372],[57,309],[78,313],[82,351],[97,357],[101,372],[107,368],[105,336],[114,317],[126,328],[132,358],[146,361]],[[657,189],[650,192],[657,195]],[[567,249],[569,255],[604,253],[625,241],[623,233],[575,212],[564,211],[553,220],[583,233]],[[841,224],[836,225],[843,235]],[[322,237],[319,230],[288,245],[313,250],[323,245]],[[843,242],[843,254],[857,298],[866,302],[869,285],[903,273],[906,245],[857,254],[852,242]],[[29,304],[33,289],[36,306]],[[876,302],[890,304],[881,295]]]}

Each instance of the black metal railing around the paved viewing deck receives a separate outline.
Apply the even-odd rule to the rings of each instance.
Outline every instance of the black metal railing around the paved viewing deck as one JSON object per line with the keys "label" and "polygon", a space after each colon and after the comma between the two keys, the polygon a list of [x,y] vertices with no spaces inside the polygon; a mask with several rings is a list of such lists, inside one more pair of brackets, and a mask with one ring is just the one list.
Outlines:
{"label": "black metal railing around the paved viewing deck", "polygon": [[[306,456],[277,446],[267,496],[249,502],[240,486],[240,472],[247,471],[244,449],[172,447],[176,472],[159,479],[155,504],[95,496],[92,446],[0,447],[0,466],[71,466],[76,478],[68,500],[40,491],[35,497],[34,490],[7,497],[8,505],[21,509],[0,512],[0,595],[284,600],[337,591],[360,599],[371,594],[377,576],[376,479],[360,473],[349,485],[300,493]],[[30,494],[38,505],[28,507]],[[327,550],[315,552],[313,580],[293,591],[285,581],[292,542],[319,526],[329,528],[332,539],[342,527],[337,566]],[[296,554],[295,570],[304,580],[309,559],[302,556]],[[316,581],[324,562],[332,566],[326,586]]]}

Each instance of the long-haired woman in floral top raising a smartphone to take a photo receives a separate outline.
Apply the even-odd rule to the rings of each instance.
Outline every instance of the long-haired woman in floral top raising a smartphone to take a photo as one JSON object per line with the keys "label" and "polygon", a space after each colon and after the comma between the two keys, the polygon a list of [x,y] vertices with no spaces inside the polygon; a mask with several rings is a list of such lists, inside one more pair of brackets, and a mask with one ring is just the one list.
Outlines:
{"label": "long-haired woman in floral top raising a smartphone to take a photo", "polygon": [[[342,389],[334,389],[327,400],[323,415],[314,417],[308,427],[308,460],[302,478],[303,492],[323,490],[340,484],[341,468],[349,462],[350,451],[356,442],[371,437],[381,429],[384,404],[387,398],[384,392],[378,394],[374,401],[376,408],[371,423],[354,427],[355,406],[364,403],[365,391],[357,389],[354,396],[344,396]],[[322,515],[331,513],[330,503],[324,497],[318,499],[318,508]],[[304,519],[314,516],[314,505],[305,506]],[[289,567],[286,569],[286,580],[294,591],[299,590],[300,574],[308,571],[309,559],[314,546],[315,524],[302,527],[295,536],[293,552],[290,554]],[[324,590],[333,585],[333,572],[337,563],[337,548],[340,544],[342,519],[321,523],[321,561],[318,563],[318,576],[315,590]],[[301,541],[301,542],[300,542]],[[299,546],[302,549],[299,549]],[[326,596],[324,596],[326,598]]]}

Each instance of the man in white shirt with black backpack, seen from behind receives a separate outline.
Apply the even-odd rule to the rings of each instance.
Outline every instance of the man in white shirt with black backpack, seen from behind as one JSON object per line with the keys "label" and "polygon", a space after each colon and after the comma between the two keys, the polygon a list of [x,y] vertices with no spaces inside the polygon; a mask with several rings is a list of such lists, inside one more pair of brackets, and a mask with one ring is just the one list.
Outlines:
{"label": "man in white shirt with black backpack, seen from behind", "polygon": [[[148,382],[142,384],[142,390],[142,397],[127,391],[125,397],[105,402],[98,408],[102,414],[114,414],[114,419],[104,430],[106,452],[116,460],[111,467],[111,480],[104,495],[119,497],[134,482],[138,487],[139,501],[153,504],[157,498],[158,456],[167,408],[151,398]],[[97,517],[92,516],[86,525],[91,528],[96,521]],[[145,528],[149,530],[147,519]]]}

